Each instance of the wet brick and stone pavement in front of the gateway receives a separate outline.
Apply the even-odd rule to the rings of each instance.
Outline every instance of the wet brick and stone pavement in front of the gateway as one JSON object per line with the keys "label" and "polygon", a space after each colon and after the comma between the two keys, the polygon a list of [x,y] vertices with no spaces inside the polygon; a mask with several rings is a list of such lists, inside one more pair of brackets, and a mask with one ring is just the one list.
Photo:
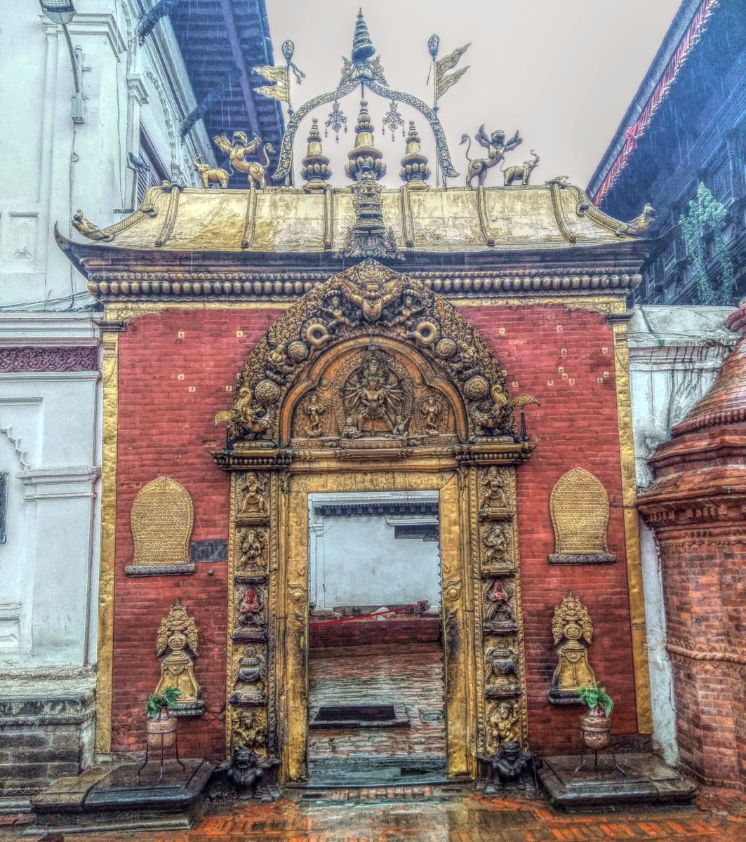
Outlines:
{"label": "wet brick and stone pavement in front of the gateway", "polygon": [[[0,828],[0,839],[17,839],[19,830]],[[554,811],[545,801],[481,797],[454,786],[292,790],[276,804],[213,804],[188,833],[67,836],[68,842],[92,838],[116,842],[746,842],[746,801],[703,794],[686,807],[631,807],[568,815]]]}

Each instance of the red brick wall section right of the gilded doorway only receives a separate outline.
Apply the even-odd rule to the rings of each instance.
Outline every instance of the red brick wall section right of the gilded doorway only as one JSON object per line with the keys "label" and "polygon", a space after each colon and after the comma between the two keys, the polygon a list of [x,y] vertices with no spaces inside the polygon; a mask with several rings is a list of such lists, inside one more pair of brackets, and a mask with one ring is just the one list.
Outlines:
{"label": "red brick wall section right of the gilded doorway only", "polygon": [[[550,705],[546,696],[557,665],[552,614],[568,589],[583,600],[594,622],[590,664],[615,700],[612,733],[637,733],[610,325],[598,313],[564,306],[463,307],[461,313],[508,372],[510,392],[541,403],[526,409],[537,447],[517,471],[531,749],[540,754],[578,749],[579,708]],[[546,560],[554,552],[549,495],[575,466],[598,477],[609,495],[613,564]]]}

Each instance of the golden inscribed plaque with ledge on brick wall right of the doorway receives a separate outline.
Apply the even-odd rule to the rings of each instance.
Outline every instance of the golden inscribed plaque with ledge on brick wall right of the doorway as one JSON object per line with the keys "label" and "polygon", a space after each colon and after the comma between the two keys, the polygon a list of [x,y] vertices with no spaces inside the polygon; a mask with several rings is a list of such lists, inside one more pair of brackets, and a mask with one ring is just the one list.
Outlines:
{"label": "golden inscribed plaque with ledge on brick wall right of the doorway", "polygon": [[606,546],[609,497],[599,480],[583,468],[573,468],[557,480],[549,498],[554,527],[550,564],[615,562]]}

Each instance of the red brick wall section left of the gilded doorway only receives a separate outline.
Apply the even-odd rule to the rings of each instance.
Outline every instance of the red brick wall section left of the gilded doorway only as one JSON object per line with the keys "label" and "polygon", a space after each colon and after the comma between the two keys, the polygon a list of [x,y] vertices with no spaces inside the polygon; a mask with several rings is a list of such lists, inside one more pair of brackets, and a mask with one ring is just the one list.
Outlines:
{"label": "red brick wall section left of the gilded doorway only", "polygon": [[113,751],[145,748],[144,705],[160,676],[155,636],[181,596],[200,630],[194,672],[205,714],[182,720],[179,750],[184,757],[224,754],[226,563],[200,563],[193,576],[126,576],[133,561],[130,509],[146,482],[166,474],[194,502],[192,540],[227,539],[230,479],[208,452],[225,443],[225,426],[216,429],[213,418],[230,407],[226,386],[235,385],[277,316],[270,308],[174,309],[136,319],[120,334]]}

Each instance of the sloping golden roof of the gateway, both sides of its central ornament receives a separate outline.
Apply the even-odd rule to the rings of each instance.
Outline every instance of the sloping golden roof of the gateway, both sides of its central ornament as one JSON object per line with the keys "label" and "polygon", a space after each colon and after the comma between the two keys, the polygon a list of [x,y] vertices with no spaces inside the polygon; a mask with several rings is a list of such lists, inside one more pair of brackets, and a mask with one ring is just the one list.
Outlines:
{"label": "sloping golden roof of the gateway, both sides of its central ornament", "polygon": [[[148,190],[140,210],[99,228],[74,224],[99,248],[163,252],[323,253],[341,248],[355,222],[349,188]],[[627,242],[637,230],[606,216],[582,189],[555,183],[470,189],[383,189],[386,226],[405,253],[573,249]]]}

